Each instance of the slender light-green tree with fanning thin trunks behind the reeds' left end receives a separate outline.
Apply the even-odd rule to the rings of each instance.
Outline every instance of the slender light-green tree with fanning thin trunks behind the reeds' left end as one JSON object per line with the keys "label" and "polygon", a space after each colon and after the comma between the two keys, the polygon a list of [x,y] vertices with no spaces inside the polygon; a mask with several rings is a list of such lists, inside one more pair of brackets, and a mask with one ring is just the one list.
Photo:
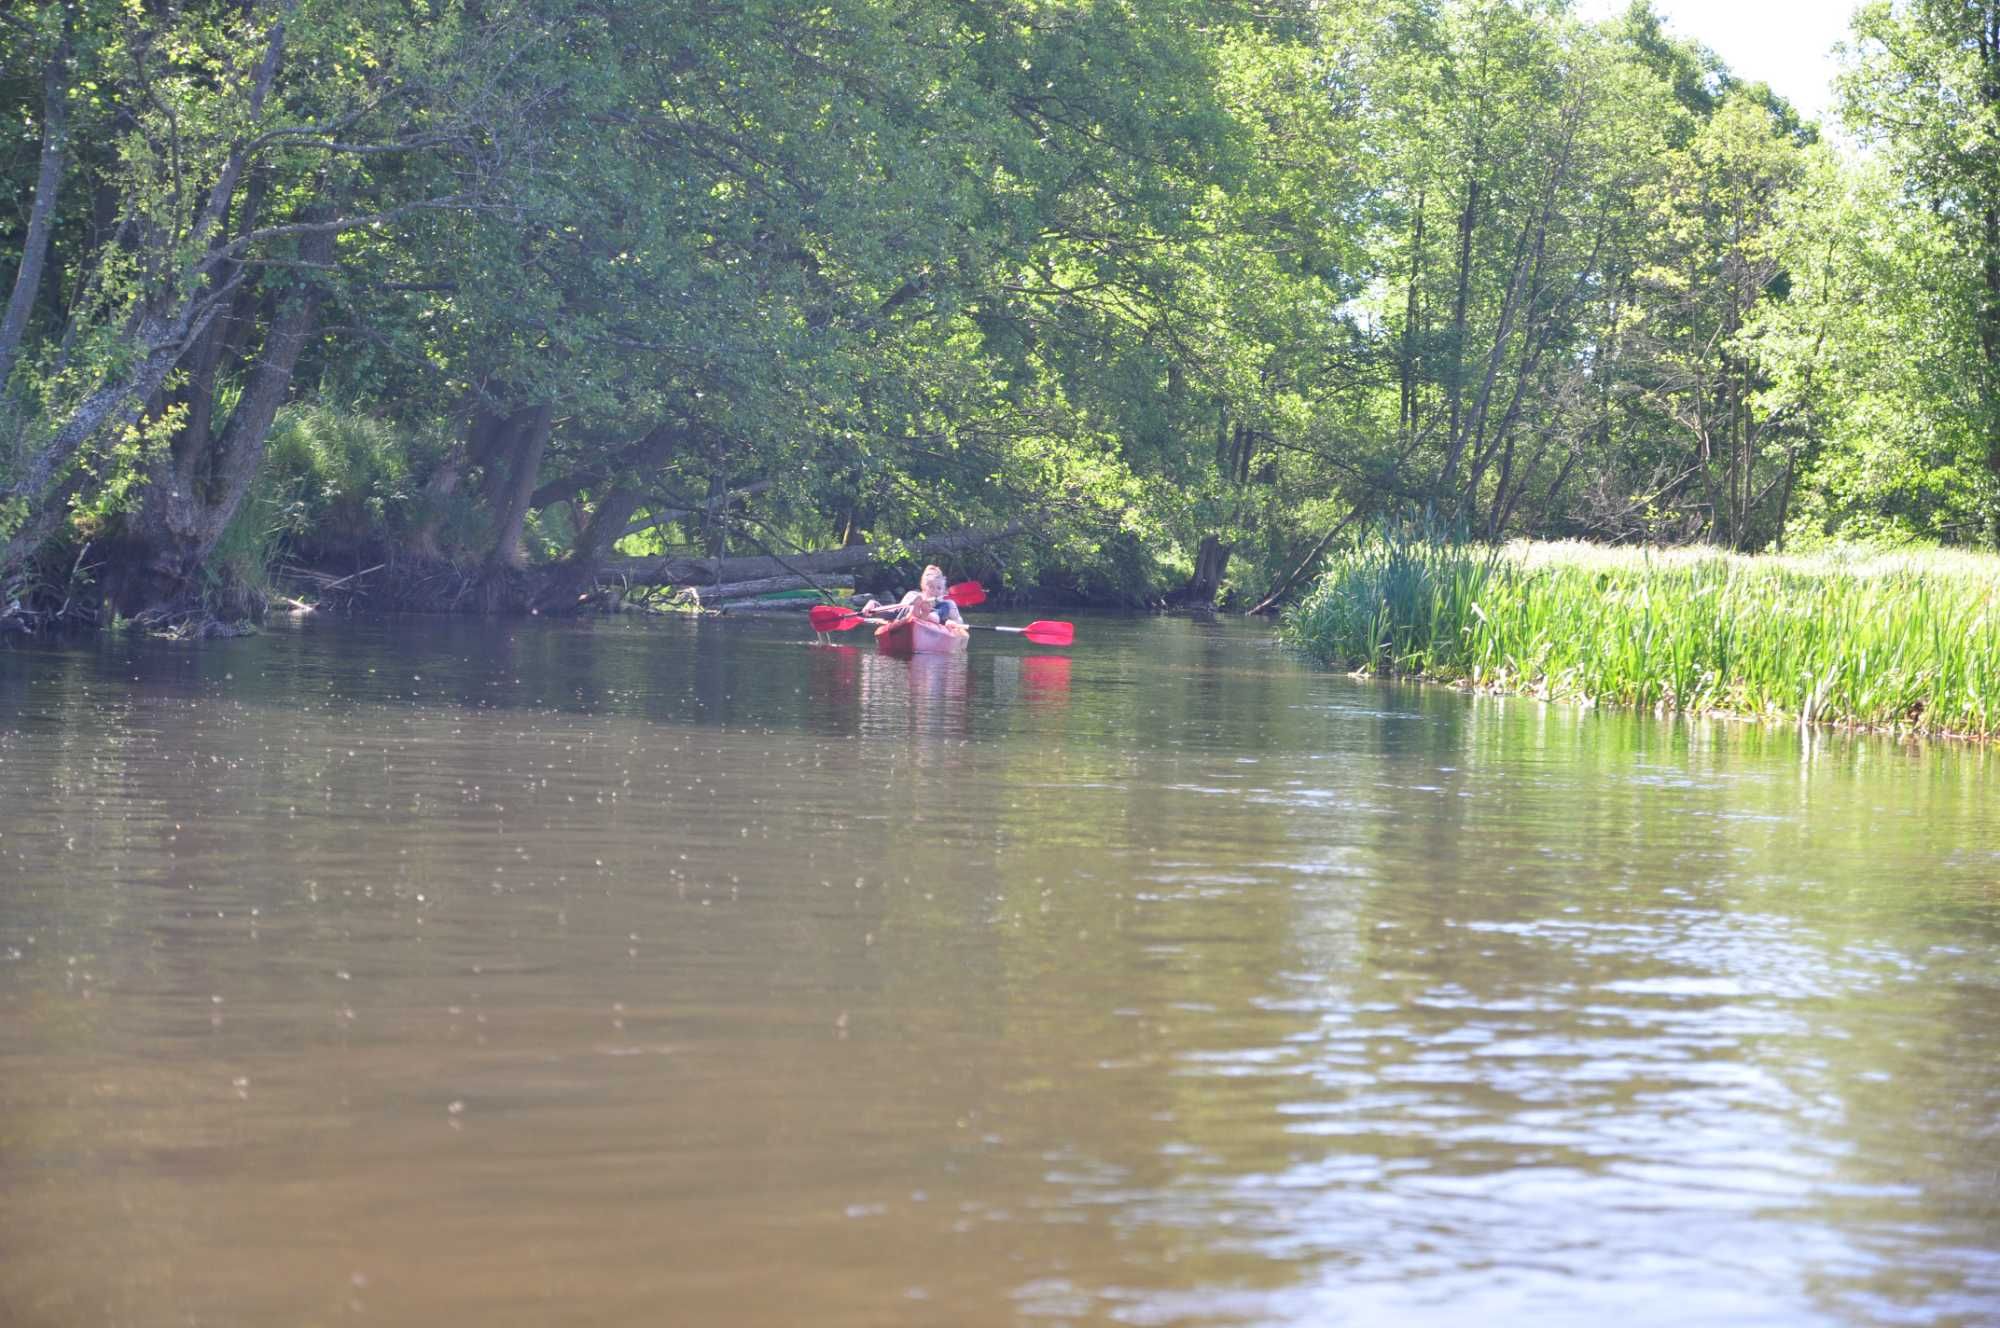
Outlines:
{"label": "slender light-green tree with fanning thin trunks behind the reeds' left end", "polygon": [[1636,200],[1682,112],[1644,62],[1560,10],[1394,12],[1386,188],[1404,226],[1378,318],[1398,468],[1440,518],[1496,538],[1524,508],[1558,510],[1604,442]]}

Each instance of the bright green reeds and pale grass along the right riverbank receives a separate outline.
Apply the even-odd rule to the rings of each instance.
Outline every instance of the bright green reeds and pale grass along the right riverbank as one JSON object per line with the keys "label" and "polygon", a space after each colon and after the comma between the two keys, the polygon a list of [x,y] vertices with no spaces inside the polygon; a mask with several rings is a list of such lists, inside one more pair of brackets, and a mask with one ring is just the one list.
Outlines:
{"label": "bright green reeds and pale grass along the right riverbank", "polygon": [[1286,636],[1340,668],[1552,700],[2000,734],[2000,558],[1482,550],[1388,534]]}

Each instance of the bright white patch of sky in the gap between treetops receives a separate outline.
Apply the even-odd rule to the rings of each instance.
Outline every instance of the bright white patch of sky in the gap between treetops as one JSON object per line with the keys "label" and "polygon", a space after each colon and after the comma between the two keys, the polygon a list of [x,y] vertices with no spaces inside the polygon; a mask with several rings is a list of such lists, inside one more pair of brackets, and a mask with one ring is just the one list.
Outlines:
{"label": "bright white patch of sky in the gap between treetops", "polygon": [[[1622,14],[1628,0],[1580,0],[1584,18]],[[1806,116],[1832,108],[1832,44],[1854,0],[1652,0],[1666,26],[1712,48],[1738,78],[1764,80]]]}

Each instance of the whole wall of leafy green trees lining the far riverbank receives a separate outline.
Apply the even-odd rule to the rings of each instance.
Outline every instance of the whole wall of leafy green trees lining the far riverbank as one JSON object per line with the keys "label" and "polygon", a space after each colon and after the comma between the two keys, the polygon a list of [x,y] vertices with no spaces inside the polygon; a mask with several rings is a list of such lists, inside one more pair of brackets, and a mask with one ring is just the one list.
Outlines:
{"label": "whole wall of leafy green trees lining the far riverbank", "polygon": [[0,614],[1994,542],[2000,0],[1840,96],[1644,0],[12,4]]}

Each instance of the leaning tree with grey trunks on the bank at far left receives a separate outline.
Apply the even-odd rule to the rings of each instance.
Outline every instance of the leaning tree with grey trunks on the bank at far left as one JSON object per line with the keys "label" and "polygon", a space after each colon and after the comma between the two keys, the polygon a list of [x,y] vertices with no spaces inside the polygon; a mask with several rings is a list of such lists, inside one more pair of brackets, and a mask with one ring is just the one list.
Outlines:
{"label": "leaning tree with grey trunks on the bank at far left", "polygon": [[[540,70],[512,56],[548,16],[286,0],[98,18],[96,136],[60,192],[78,220],[56,222],[64,280],[0,448],[0,574],[84,502],[118,548],[118,608],[168,612],[202,596],[344,236],[484,198],[536,108],[508,80]],[[80,44],[64,32],[58,54]],[[68,114],[48,100],[46,140]]]}

